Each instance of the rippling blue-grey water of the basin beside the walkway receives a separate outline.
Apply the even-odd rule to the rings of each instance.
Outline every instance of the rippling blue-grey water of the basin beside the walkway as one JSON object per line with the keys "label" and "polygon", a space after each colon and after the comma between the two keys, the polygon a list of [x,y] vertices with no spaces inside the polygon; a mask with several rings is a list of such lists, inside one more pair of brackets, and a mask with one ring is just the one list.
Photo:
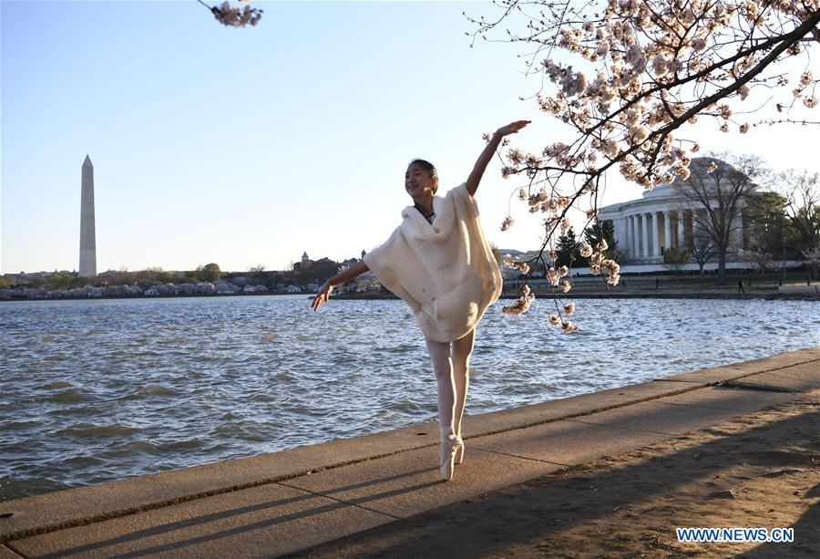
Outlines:
{"label": "rippling blue-grey water of the basin beside the walkway", "polygon": [[[820,343],[810,301],[579,300],[581,330],[487,311],[466,414]],[[304,295],[0,304],[0,499],[436,419],[397,300]]]}

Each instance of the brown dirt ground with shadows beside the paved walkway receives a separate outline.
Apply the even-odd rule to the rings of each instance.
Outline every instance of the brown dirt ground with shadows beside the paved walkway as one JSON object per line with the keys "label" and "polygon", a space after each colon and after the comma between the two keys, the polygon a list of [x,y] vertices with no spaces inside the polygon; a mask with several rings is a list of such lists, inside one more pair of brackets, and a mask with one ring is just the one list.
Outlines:
{"label": "brown dirt ground with shadows beside the paved walkway", "polygon": [[[289,556],[818,557],[818,397]],[[794,527],[794,543],[680,543],[676,527]]]}

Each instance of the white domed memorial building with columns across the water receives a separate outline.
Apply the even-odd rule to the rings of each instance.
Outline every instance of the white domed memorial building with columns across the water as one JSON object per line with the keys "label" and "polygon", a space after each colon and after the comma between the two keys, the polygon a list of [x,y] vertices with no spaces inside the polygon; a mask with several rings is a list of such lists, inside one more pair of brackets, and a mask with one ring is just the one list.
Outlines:
{"label": "white domed memorial building with columns across the water", "polygon": [[[709,181],[712,175],[705,174],[705,170],[712,161],[726,164],[711,158],[696,158],[690,163],[690,169],[692,173],[702,173],[700,176]],[[738,201],[738,207],[746,207],[743,198]],[[706,209],[701,203],[687,198],[677,186],[670,183],[643,192],[638,200],[601,208],[598,219],[601,222],[612,222],[615,242],[620,250],[626,251],[628,263],[662,264],[666,249],[692,247],[693,232],[698,230],[697,220],[692,219],[693,212],[705,216]],[[727,255],[748,248],[747,233],[748,217],[745,214],[735,216]]]}

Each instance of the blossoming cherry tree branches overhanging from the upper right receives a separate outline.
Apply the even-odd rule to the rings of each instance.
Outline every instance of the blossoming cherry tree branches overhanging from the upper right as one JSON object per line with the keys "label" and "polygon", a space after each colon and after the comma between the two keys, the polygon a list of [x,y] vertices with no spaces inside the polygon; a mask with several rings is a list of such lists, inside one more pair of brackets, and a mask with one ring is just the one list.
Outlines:
{"label": "blossoming cherry tree branches overhanging from the upper right", "polygon": [[[539,153],[508,150],[502,169],[505,177],[527,178],[519,199],[530,212],[543,213],[545,234],[537,258],[555,251],[570,209],[586,212],[582,205],[589,205],[585,226],[594,220],[608,171],[620,171],[645,188],[670,183],[675,175],[688,178],[691,154],[700,147],[675,137],[685,124],[712,119],[716,128],[740,133],[763,124],[743,116],[753,119],[759,105],[741,108],[758,88],[771,91],[768,102],[783,117],[778,122],[807,124],[800,111],[817,105],[817,80],[804,70],[820,38],[815,0],[495,4],[502,10],[497,17],[468,17],[477,26],[473,36],[526,45],[528,73],[542,74],[557,89],[551,96],[538,92],[539,108],[570,130],[565,141]],[[502,26],[504,38],[492,38]],[[577,62],[556,62],[556,49]],[[802,60],[784,64],[789,57]],[[502,229],[512,223],[508,215]],[[591,260],[602,261],[601,253],[593,247]],[[617,282],[618,268],[604,268]]]}

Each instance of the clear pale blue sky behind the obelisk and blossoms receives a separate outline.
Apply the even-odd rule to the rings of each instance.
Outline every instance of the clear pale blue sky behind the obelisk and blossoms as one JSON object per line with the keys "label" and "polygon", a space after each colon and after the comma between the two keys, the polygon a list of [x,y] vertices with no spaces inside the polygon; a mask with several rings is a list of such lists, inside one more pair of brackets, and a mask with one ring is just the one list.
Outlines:
{"label": "clear pale blue sky behind the obelisk and blossoms", "polygon": [[[499,16],[490,2],[251,5],[260,24],[229,28],[194,0],[0,0],[0,272],[77,269],[86,155],[97,271],[239,272],[383,243],[412,203],[414,158],[436,164],[443,194],[466,180],[485,132],[529,119],[511,137],[523,150],[568,140],[538,111],[527,47],[471,47],[462,12]],[[690,137],[775,170],[818,169],[815,129],[716,128]],[[538,219],[515,203],[516,225],[500,231],[523,184],[500,168],[477,192],[487,238],[537,248]],[[641,193],[613,177],[602,205]]]}

